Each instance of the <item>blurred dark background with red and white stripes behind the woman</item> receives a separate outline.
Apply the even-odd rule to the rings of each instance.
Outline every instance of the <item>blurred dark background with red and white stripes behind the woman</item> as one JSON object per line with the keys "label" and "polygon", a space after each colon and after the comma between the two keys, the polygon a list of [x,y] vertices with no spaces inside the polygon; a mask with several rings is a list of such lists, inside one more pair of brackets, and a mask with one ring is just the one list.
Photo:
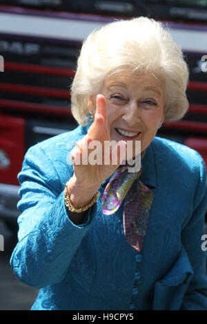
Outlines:
{"label": "blurred dark background with red and white stripes behind the woman", "polygon": [[0,310],[29,310],[38,293],[9,264],[23,156],[77,127],[69,88],[83,39],[105,23],[139,16],[170,28],[190,71],[187,114],[157,136],[197,150],[207,165],[207,0],[0,0]]}

